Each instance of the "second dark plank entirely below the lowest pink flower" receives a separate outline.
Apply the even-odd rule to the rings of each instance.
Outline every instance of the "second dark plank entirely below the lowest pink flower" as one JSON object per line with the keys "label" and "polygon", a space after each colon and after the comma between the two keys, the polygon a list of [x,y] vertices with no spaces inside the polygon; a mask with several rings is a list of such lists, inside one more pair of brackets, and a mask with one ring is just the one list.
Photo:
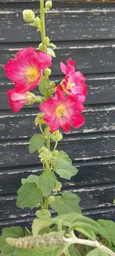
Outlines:
{"label": "second dark plank entirely below the lowest pink flower", "polygon": [[[85,186],[99,186],[115,182],[115,160],[89,161],[76,164],[78,173],[70,181],[63,180],[63,188],[83,188]],[[21,186],[21,178],[29,175],[40,175],[41,168],[37,166],[27,168],[2,169],[0,171],[0,195],[16,193]]]}

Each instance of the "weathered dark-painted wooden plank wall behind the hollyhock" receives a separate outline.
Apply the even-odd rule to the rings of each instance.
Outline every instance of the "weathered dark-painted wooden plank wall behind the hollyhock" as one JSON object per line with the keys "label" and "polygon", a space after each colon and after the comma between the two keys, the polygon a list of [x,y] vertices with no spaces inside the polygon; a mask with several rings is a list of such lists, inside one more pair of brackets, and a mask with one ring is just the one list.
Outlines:
{"label": "weathered dark-painted wooden plank wall behind the hollyhock", "polygon": [[[7,2],[7,5],[5,3]],[[88,78],[86,122],[80,130],[63,135],[59,150],[66,152],[79,172],[63,189],[81,196],[85,215],[115,221],[115,5],[54,0],[46,17],[47,32],[56,42],[53,77],[63,74],[59,62],[73,58],[77,69]],[[38,9],[38,0],[0,0],[0,227],[30,225],[33,211],[16,207],[16,190],[21,178],[39,174],[37,153],[28,152],[28,139],[38,130],[34,117],[38,106],[23,108],[18,114],[9,110],[6,92],[12,81],[5,78],[3,65],[23,47],[38,46],[40,37],[33,27],[23,26],[22,10]],[[27,42],[28,41],[28,42]]]}

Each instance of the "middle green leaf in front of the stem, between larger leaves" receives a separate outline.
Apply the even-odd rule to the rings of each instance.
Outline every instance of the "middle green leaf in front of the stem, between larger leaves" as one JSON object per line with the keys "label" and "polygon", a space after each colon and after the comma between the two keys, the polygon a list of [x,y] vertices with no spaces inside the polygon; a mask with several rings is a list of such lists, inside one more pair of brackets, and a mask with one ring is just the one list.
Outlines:
{"label": "middle green leaf in front of the stem, between larger leaves", "polygon": [[39,188],[44,197],[48,197],[52,189],[56,188],[56,176],[52,171],[44,171],[43,174],[39,176]]}

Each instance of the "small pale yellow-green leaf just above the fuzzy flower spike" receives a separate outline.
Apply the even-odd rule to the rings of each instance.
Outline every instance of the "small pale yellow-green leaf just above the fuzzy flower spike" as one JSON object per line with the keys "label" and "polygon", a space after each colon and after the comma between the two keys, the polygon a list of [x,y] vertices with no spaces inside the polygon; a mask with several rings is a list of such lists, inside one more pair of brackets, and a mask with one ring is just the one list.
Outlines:
{"label": "small pale yellow-green leaf just above the fuzzy flower spike", "polygon": [[32,233],[34,236],[38,235],[41,229],[47,228],[52,225],[52,220],[50,218],[41,219],[41,218],[34,218],[32,224]]}

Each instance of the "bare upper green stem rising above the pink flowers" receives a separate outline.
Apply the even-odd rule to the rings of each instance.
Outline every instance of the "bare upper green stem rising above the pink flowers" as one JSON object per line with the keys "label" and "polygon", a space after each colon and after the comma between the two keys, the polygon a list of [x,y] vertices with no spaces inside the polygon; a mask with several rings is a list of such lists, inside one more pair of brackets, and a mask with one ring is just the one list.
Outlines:
{"label": "bare upper green stem rising above the pink flowers", "polygon": [[40,0],[40,11],[41,11],[41,42],[43,46],[43,52],[47,52],[45,46],[45,9],[44,0]]}

